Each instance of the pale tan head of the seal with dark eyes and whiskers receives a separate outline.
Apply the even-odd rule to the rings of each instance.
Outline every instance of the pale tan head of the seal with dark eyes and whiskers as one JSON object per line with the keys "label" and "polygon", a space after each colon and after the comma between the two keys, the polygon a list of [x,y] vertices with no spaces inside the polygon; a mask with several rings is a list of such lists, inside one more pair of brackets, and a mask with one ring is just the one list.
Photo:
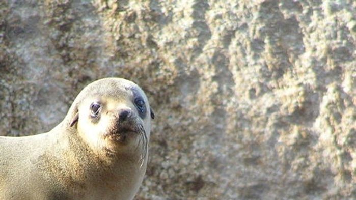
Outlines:
{"label": "pale tan head of the seal with dark eyes and whiskers", "polygon": [[137,152],[146,157],[154,113],[135,83],[122,78],[94,81],[78,94],[69,114],[70,128],[99,156]]}

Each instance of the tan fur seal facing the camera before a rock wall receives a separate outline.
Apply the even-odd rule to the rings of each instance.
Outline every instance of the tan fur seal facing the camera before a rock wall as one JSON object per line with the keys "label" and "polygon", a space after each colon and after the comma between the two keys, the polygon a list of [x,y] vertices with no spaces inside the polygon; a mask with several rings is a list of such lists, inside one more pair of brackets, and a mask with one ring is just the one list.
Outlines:
{"label": "tan fur seal facing the camera before a rock wall", "polygon": [[0,137],[0,199],[133,199],[146,172],[153,118],[135,83],[90,83],[49,132]]}

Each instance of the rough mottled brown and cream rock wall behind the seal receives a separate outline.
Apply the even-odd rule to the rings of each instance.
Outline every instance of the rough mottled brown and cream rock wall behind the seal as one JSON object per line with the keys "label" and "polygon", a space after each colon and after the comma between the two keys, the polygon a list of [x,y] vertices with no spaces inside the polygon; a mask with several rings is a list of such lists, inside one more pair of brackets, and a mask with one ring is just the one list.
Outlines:
{"label": "rough mottled brown and cream rock wall behind the seal", "polygon": [[356,199],[356,2],[0,1],[0,133],[131,79],[156,111],[136,199]]}

